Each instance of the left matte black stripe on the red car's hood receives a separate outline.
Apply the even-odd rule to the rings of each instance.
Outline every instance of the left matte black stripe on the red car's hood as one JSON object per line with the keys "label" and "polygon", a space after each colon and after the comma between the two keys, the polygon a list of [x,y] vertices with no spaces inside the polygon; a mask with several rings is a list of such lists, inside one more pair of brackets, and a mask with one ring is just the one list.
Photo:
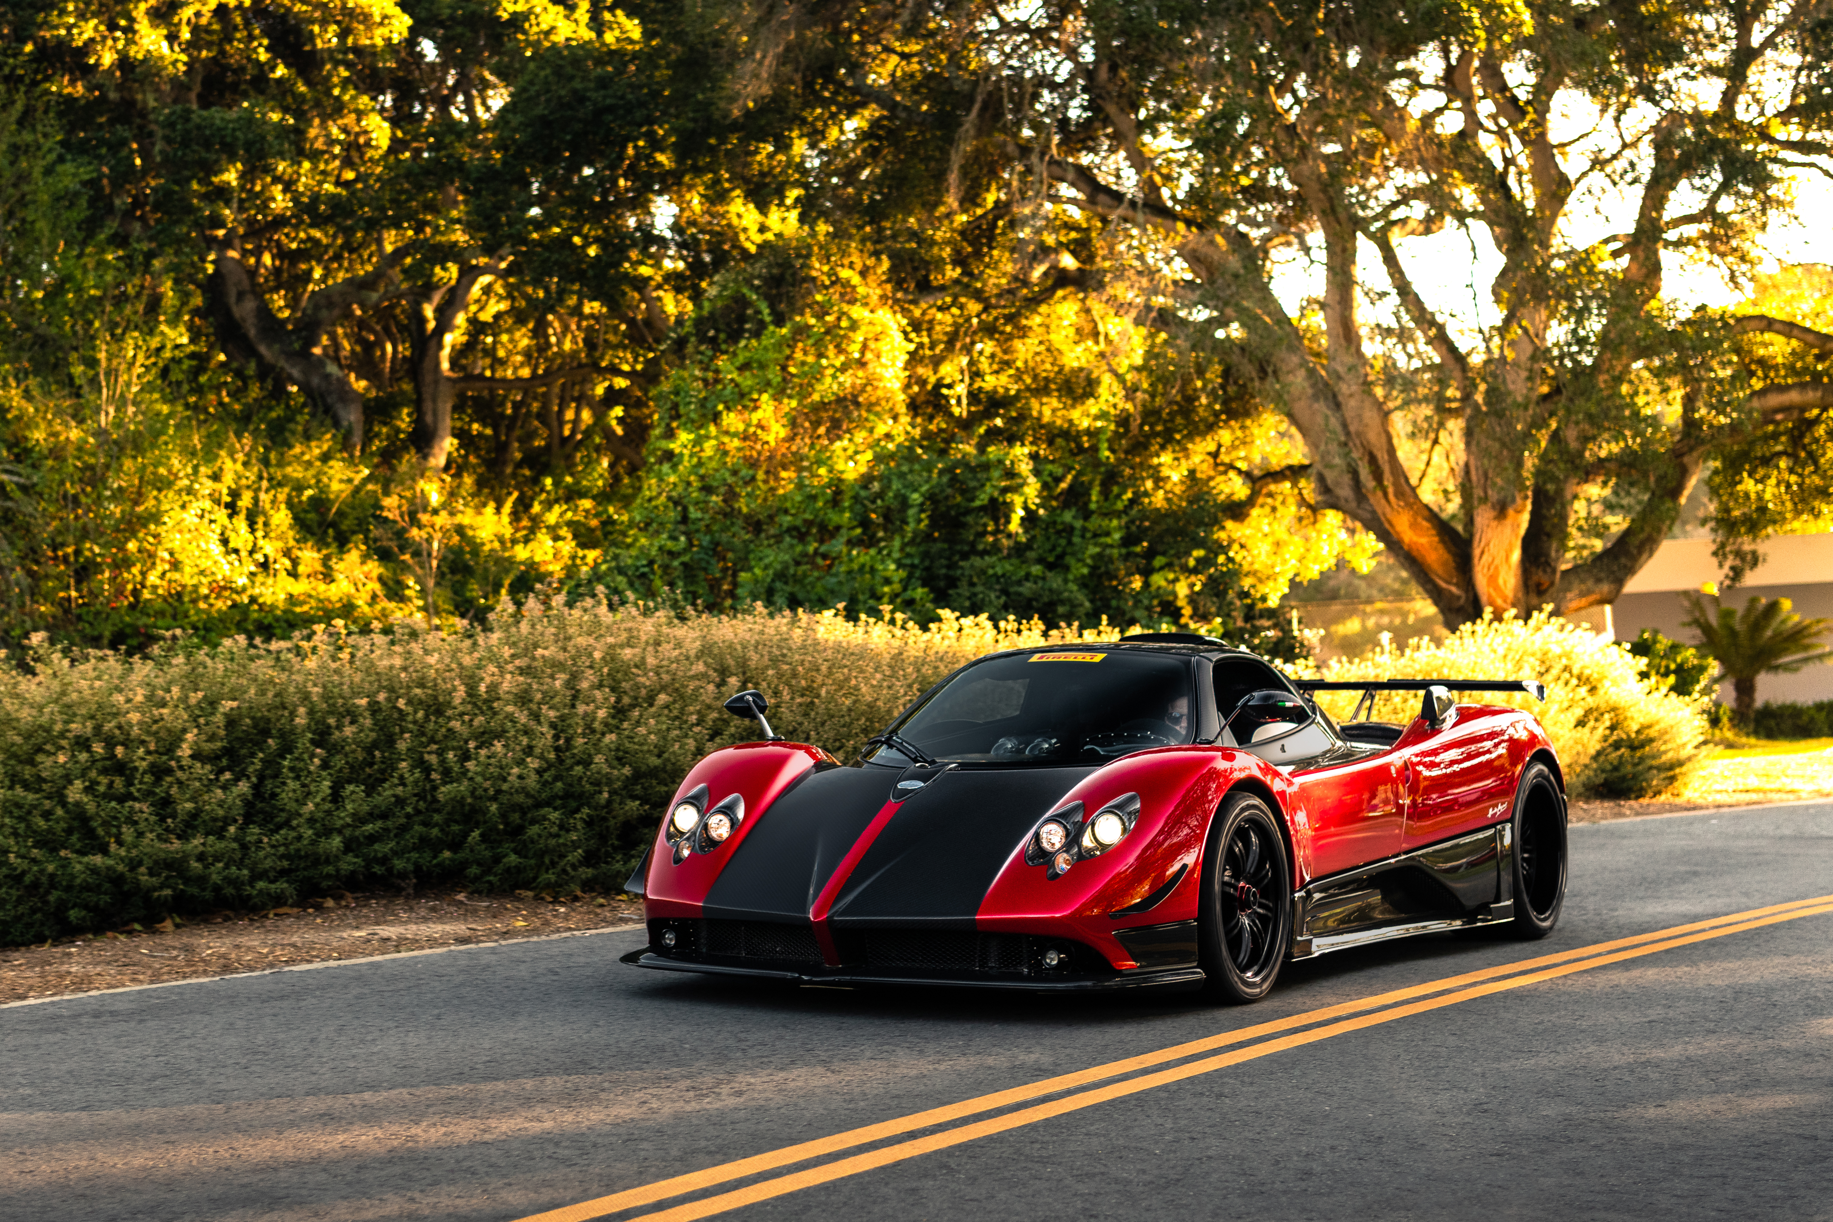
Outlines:
{"label": "left matte black stripe on the red car's hood", "polygon": [[706,892],[708,916],[807,922],[840,859],[884,810],[896,768],[832,768],[757,815]]}

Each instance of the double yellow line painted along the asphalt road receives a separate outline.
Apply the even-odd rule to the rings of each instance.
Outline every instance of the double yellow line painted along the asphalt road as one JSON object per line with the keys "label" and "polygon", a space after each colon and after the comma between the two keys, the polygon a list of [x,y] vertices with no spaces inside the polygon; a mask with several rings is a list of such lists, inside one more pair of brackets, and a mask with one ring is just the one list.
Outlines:
{"label": "double yellow line painted along the asphalt road", "polygon": [[[775,1171],[779,1167],[808,1162],[812,1158],[838,1154],[841,1151],[858,1145],[884,1141],[885,1138],[915,1132],[918,1129],[935,1129],[937,1125],[948,1125],[951,1121],[968,1116],[977,1116],[981,1112],[993,1112],[999,1108],[1012,1107],[1014,1103],[1037,1099],[1041,1096],[1076,1092],[1078,1086],[1087,1086],[1091,1083],[1098,1083],[1109,1077],[1124,1077],[1127,1074],[1136,1074],[1138,1070],[1149,1070],[1157,1064],[1166,1064],[1169,1061],[1184,1061],[1186,1057],[1215,1052],[1217,1048],[1228,1048],[1230,1044],[1248,1044],[1250,1041],[1257,1041],[1265,1035],[1279,1035],[1281,1031],[1294,1031],[1290,1035],[1281,1035],[1279,1039],[1267,1039],[1263,1042],[1250,1044],[1246,1048],[1235,1048],[1234,1052],[1224,1052],[1221,1055],[1186,1061],[1184,1064],[1168,1070],[1158,1070],[1157,1074],[1138,1074],[1136,1077],[1125,1077],[1125,1081],[1109,1083],[1105,1086],[1096,1086],[1092,1090],[1080,1090],[1076,1094],[1067,1094],[1048,1103],[1039,1103],[1036,1107],[1021,1108],[1015,1112],[1004,1112],[1003,1116],[992,1116],[988,1119],[981,1119],[971,1125],[960,1125],[922,1138],[913,1138],[909,1141],[884,1145],[876,1151],[867,1151],[863,1154],[854,1154],[851,1158],[840,1158],[829,1163],[819,1163],[816,1167],[807,1167],[803,1171],[777,1176],[774,1180],[763,1180],[759,1184],[733,1189],[730,1193],[720,1193],[717,1196],[706,1196],[702,1200],[675,1206],[671,1209],[645,1213],[642,1215],[640,1220],[632,1222],[687,1222],[689,1218],[706,1218],[717,1213],[726,1213],[728,1209],[752,1206],[761,1200],[783,1196],[786,1193],[797,1193],[805,1187],[814,1187],[818,1184],[829,1184],[832,1180],[841,1180],[845,1176],[860,1174],[862,1171],[873,1171],[876,1167],[898,1163],[907,1158],[916,1158],[918,1154],[929,1154],[933,1151],[948,1149],[951,1145],[977,1141],[979,1138],[988,1138],[995,1132],[1008,1132],[1023,1125],[1034,1125],[1041,1119],[1050,1119],[1052,1116],[1063,1116],[1065,1112],[1076,1112],[1085,1107],[1094,1107],[1096,1103],[1107,1103],[1109,1099],[1118,1099],[1122,1096],[1138,1094],[1142,1090],[1151,1090],[1155,1086],[1166,1086],[1169,1083],[1184,1081],[1186,1077],[1197,1077],[1199,1074],[1212,1074],[1215,1070],[1228,1068],[1230,1064],[1241,1064],[1243,1061],[1254,1061],[1257,1057],[1267,1057],[1276,1052],[1285,1052],[1289,1048],[1314,1044],[1318,1041],[1331,1039],[1333,1035],[1360,1031],[1364,1028],[1378,1026],[1382,1022],[1393,1022],[1395,1019],[1406,1019],[1417,1013],[1426,1013],[1428,1009],[1443,1009],[1444,1006],[1455,1006],[1457,1002],[1474,1000],[1477,997],[1488,997],[1492,993],[1503,993],[1507,989],[1518,989],[1529,984],[1540,984],[1542,980],[1554,980],[1558,977],[1569,977],[1578,971],[1591,971],[1593,967],[1604,967],[1608,964],[1620,964],[1628,958],[1655,955],[1657,951],[1672,951],[1675,947],[1692,945],[1694,942],[1707,942],[1708,938],[1723,938],[1727,934],[1745,933],[1749,929],[1762,929],[1763,925],[1791,922],[1800,916],[1817,916],[1820,912],[1833,912],[1833,896],[1820,896],[1817,900],[1795,900],[1793,903],[1776,903],[1767,909],[1751,909],[1749,912],[1732,912],[1729,916],[1716,916],[1712,920],[1694,922],[1690,925],[1674,925],[1672,929],[1657,929],[1653,933],[1635,934],[1633,938],[1598,942],[1597,945],[1580,947],[1576,951],[1560,951],[1558,955],[1543,955],[1540,958],[1531,958],[1518,964],[1485,967],[1481,971],[1470,971],[1461,977],[1446,977],[1443,980],[1432,980],[1428,984],[1415,984],[1404,989],[1393,989],[1391,993],[1377,993],[1375,997],[1364,997],[1353,1002],[1342,1002],[1338,1006],[1323,1006],[1322,1009],[1309,1009],[1305,1013],[1292,1015],[1289,1019],[1261,1022],[1257,1026],[1243,1028],[1239,1031],[1223,1031],[1221,1035],[1195,1039],[1186,1044],[1173,1044],[1169,1048],[1160,1048],[1157,1052],[1127,1057],[1124,1061],[1109,1061],[1107,1064],[1096,1064],[1092,1068],[1078,1070],[1074,1074],[1047,1077],[1043,1081],[1030,1083],[1026,1086],[997,1090],[993,1094],[979,1096],[975,1099],[964,1099],[960,1103],[949,1103],[948,1107],[929,1108],[927,1112],[913,1112],[911,1116],[887,1119],[878,1125],[867,1125],[863,1129],[849,1129],[847,1132],[836,1132],[830,1138],[818,1138],[814,1141],[803,1141],[799,1145],[786,1145],[781,1151],[770,1151],[768,1154],[741,1158],[737,1162],[720,1163],[719,1167],[708,1167],[706,1171],[693,1171],[682,1176],[673,1176],[669,1180],[656,1180],[654,1184],[632,1187],[623,1193],[612,1193],[610,1196],[599,1196],[596,1200],[587,1200],[577,1206],[565,1206],[561,1209],[550,1209],[548,1213],[537,1213],[533,1217],[522,1218],[521,1222],[587,1222],[588,1218],[601,1218],[609,1213],[620,1213],[623,1209],[638,1209],[642,1206],[653,1206],[671,1196],[682,1196],[684,1193],[697,1193],[708,1187],[715,1187],[719,1184],[730,1184],[733,1180],[755,1176],[764,1171]],[[1344,1019],[1344,1015],[1360,1015],[1360,1017]],[[1344,1019],[1344,1020],[1331,1022],[1333,1019]],[[1298,1030],[1298,1028],[1311,1028],[1311,1030]]]}

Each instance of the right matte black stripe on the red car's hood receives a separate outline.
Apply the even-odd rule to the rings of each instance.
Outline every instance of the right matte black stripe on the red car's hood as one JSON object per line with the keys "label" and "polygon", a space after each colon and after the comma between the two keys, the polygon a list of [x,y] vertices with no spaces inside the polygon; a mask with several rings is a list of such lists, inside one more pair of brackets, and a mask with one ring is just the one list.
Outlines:
{"label": "right matte black stripe on the red car's hood", "polygon": [[1092,768],[957,769],[907,799],[834,901],[836,929],[973,929],[1006,857]]}

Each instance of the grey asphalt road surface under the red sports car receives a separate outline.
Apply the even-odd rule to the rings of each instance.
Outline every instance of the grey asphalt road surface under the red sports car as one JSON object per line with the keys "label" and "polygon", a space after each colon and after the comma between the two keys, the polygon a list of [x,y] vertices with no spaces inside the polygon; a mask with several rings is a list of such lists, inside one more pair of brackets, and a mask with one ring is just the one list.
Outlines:
{"label": "grey asphalt road surface under the red sports car", "polygon": [[[1289,966],[1243,1009],[726,984],[620,966],[638,933],[5,1008],[0,1217],[521,1218],[1833,892],[1833,804],[1576,826],[1571,845],[1547,942],[1342,953]],[[1833,912],[1393,1017],[715,1217],[1833,1218]]]}

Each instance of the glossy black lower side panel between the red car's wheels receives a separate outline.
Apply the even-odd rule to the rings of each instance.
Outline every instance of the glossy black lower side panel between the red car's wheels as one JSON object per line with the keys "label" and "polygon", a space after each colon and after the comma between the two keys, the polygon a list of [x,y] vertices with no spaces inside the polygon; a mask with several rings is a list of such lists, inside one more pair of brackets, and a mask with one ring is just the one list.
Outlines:
{"label": "glossy black lower side panel between the red car's wheels", "polygon": [[1300,890],[1290,958],[1514,918],[1514,828],[1499,823]]}

